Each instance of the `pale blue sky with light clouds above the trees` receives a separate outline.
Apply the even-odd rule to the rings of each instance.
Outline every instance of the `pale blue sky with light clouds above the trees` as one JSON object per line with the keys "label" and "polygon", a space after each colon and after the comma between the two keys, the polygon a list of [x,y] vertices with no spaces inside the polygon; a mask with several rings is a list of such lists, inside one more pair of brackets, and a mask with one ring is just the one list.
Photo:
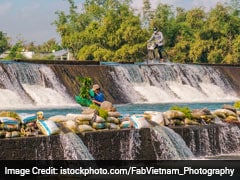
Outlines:
{"label": "pale blue sky with light clouds above the trees", "polygon": [[[166,3],[175,7],[191,9],[203,6],[206,10],[217,2],[226,0],[150,0],[152,7]],[[75,0],[79,7],[83,0]],[[142,7],[142,0],[133,0],[134,8]],[[42,44],[51,38],[60,42],[56,27],[52,25],[57,19],[56,11],[67,12],[67,0],[0,0],[0,31],[11,37],[11,43],[18,39],[26,43]]]}

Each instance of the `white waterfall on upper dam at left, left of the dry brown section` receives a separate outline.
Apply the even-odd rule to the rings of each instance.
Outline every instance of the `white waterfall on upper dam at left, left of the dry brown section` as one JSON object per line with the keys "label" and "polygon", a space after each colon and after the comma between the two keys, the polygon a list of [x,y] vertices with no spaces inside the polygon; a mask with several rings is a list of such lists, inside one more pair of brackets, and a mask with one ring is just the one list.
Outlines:
{"label": "white waterfall on upper dam at left, left of the dry brown section", "polygon": [[46,65],[3,63],[0,74],[0,109],[76,106]]}

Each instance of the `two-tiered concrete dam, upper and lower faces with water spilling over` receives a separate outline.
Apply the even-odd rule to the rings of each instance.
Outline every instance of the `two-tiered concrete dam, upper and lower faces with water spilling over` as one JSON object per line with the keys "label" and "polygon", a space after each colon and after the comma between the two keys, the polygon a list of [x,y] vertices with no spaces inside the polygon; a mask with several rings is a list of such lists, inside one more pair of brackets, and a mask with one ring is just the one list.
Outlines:
{"label": "two-tiered concrete dam, upper and lower faces with water spilling over", "polygon": [[[240,97],[238,66],[66,65],[9,61],[0,63],[0,71],[2,110],[79,107],[74,100],[79,92],[76,77],[91,77],[103,87],[106,99],[114,104],[233,102]],[[165,140],[165,136],[172,138]],[[174,142],[175,139],[178,141]],[[166,146],[162,145],[164,143]],[[193,155],[238,152],[240,130],[238,125],[231,124],[170,130],[124,129],[0,139],[0,144],[6,147],[0,154],[2,160],[188,159]]]}

